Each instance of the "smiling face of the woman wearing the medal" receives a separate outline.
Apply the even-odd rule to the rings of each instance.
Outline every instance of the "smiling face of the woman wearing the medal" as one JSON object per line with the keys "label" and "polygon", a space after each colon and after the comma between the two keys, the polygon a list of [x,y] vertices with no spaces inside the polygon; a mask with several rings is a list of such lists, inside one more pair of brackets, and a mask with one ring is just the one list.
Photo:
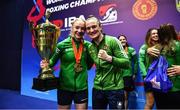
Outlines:
{"label": "smiling face of the woman wearing the medal", "polygon": [[77,19],[71,27],[71,35],[76,39],[82,39],[85,33],[85,21]]}

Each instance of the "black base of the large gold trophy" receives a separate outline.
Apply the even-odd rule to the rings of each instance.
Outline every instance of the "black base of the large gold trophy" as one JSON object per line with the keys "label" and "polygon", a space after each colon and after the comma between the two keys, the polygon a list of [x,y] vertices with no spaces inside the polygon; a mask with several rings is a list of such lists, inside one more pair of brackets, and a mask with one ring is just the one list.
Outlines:
{"label": "black base of the large gold trophy", "polygon": [[32,89],[38,91],[48,91],[52,89],[57,89],[58,87],[58,78],[50,78],[50,79],[39,79],[33,78],[33,86]]}

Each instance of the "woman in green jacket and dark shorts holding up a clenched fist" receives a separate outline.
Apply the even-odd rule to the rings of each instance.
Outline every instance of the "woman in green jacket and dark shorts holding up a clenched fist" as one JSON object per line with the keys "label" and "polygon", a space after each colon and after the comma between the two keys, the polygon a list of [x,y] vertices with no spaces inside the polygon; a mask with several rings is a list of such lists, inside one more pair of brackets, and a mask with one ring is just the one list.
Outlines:
{"label": "woman in green jacket and dark shorts holding up a clenched fist", "polygon": [[96,17],[86,19],[86,32],[92,39],[88,51],[96,65],[92,108],[124,109],[122,68],[130,67],[129,59],[117,38],[102,33]]}

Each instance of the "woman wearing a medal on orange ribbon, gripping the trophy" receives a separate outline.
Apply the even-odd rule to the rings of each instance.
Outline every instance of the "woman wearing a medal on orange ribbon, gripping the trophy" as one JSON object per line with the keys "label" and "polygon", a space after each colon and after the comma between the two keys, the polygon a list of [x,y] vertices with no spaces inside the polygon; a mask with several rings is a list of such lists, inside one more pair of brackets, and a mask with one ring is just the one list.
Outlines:
{"label": "woman wearing a medal on orange ribbon, gripping the trophy", "polygon": [[77,18],[71,27],[70,35],[57,44],[49,61],[42,60],[41,68],[54,66],[61,61],[57,100],[59,109],[70,109],[72,101],[76,109],[87,109],[88,82],[87,70],[91,67],[87,48],[90,42],[83,40],[85,21]]}

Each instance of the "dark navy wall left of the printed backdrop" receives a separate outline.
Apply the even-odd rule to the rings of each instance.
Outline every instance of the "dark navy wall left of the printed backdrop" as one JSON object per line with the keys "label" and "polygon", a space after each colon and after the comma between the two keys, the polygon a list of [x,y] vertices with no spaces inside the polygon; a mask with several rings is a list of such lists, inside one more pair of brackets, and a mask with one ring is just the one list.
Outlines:
{"label": "dark navy wall left of the printed backdrop", "polygon": [[0,4],[0,88],[20,90],[24,0]]}

